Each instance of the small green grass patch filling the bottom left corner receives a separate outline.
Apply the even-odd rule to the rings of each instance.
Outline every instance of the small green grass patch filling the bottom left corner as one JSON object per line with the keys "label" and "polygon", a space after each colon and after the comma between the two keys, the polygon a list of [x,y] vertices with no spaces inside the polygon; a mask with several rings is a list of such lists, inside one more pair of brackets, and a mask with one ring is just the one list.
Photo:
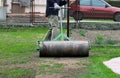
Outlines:
{"label": "small green grass patch filling the bottom left corner", "polygon": [[0,72],[0,78],[32,78],[35,72],[32,69],[13,68]]}

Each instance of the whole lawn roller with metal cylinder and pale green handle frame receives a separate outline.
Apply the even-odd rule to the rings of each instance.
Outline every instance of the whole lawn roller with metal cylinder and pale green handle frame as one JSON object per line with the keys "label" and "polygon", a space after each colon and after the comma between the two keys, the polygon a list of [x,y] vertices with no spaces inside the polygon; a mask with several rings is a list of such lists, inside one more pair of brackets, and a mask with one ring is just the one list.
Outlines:
{"label": "whole lawn roller with metal cylinder and pale green handle frame", "polygon": [[44,38],[44,41],[37,42],[40,57],[89,56],[89,41],[72,41],[72,39],[63,33],[62,8],[60,8],[60,34],[55,39],[49,41],[50,35],[51,31],[49,30]]}

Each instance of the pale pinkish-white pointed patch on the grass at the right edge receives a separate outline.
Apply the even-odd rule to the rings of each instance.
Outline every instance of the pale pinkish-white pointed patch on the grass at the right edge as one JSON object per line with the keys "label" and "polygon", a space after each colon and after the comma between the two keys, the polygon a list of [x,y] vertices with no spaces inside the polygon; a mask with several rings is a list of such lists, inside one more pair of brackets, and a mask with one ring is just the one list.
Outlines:
{"label": "pale pinkish-white pointed patch on the grass at the right edge", "polygon": [[104,61],[103,63],[113,72],[120,74],[120,57]]}

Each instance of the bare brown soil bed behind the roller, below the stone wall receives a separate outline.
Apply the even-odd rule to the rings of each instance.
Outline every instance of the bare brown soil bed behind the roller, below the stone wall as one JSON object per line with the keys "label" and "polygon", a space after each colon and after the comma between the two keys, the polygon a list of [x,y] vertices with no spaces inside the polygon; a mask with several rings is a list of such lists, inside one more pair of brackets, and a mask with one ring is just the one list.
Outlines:
{"label": "bare brown soil bed behind the roller, below the stone wall", "polygon": [[[80,30],[84,31],[84,33]],[[84,34],[85,36],[82,36]],[[97,35],[101,35],[103,41],[114,40],[117,41],[115,45],[120,45],[120,30],[84,30],[74,29],[71,37],[73,40],[89,40],[91,44],[95,44]]]}

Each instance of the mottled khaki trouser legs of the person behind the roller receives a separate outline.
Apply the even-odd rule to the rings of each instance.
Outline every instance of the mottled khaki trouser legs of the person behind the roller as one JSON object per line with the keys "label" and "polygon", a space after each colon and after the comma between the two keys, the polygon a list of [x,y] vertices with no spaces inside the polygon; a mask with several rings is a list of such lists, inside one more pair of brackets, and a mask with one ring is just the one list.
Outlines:
{"label": "mottled khaki trouser legs of the person behind the roller", "polygon": [[58,20],[58,16],[56,16],[56,15],[48,16],[48,22],[50,24],[50,30],[52,29],[51,40],[53,40],[59,34],[59,20]]}

